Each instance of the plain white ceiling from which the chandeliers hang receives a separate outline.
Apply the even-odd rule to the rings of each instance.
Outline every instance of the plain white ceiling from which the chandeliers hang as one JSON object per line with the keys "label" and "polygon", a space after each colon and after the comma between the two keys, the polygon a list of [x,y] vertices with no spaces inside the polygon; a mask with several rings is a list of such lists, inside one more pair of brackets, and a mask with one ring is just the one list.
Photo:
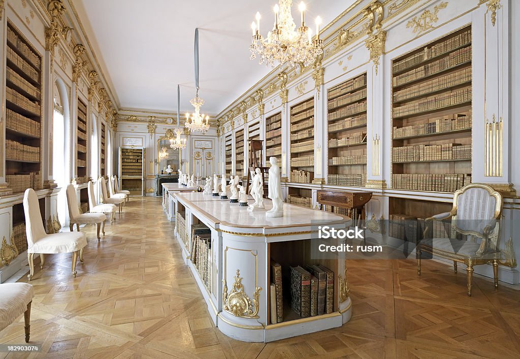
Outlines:
{"label": "plain white ceiling from which the chandeliers hang", "polygon": [[[195,95],[193,38],[199,28],[203,112],[216,115],[271,68],[250,60],[251,22],[262,14],[265,36],[276,0],[72,0],[120,109],[181,115]],[[327,24],[353,0],[306,0],[306,20]],[[293,17],[300,24],[297,4]]]}

